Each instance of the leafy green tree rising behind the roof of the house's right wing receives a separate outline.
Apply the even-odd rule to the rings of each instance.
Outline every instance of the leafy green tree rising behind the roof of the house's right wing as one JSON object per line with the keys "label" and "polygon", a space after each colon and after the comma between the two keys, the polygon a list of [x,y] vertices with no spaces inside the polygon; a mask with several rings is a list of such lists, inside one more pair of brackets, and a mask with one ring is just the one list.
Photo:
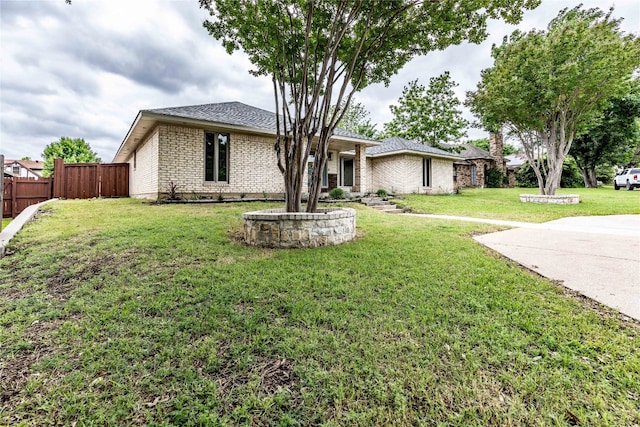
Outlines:
{"label": "leafy green tree rising behind the roof of the house's right wing", "polygon": [[448,71],[432,77],[428,87],[418,84],[418,80],[409,82],[398,105],[389,107],[393,119],[385,123],[385,135],[433,146],[465,137],[469,123],[462,117],[460,100],[453,90],[456,86]]}

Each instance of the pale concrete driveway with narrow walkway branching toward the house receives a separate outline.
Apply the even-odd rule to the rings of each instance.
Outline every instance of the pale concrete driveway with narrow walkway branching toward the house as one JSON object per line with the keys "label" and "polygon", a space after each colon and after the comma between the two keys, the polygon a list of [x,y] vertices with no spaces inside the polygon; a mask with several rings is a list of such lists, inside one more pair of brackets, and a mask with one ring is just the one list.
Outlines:
{"label": "pale concrete driveway with narrow walkway branching toward the house", "polygon": [[409,215],[516,227],[474,239],[544,277],[640,320],[640,215],[568,217],[542,224]]}

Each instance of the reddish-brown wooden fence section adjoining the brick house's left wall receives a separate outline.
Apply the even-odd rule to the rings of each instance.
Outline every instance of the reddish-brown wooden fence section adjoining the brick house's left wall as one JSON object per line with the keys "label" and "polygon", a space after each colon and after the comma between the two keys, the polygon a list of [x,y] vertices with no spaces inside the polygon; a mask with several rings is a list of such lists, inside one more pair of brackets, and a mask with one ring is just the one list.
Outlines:
{"label": "reddish-brown wooden fence section adjoining the brick house's left wall", "polygon": [[53,197],[129,197],[128,163],[53,163]]}

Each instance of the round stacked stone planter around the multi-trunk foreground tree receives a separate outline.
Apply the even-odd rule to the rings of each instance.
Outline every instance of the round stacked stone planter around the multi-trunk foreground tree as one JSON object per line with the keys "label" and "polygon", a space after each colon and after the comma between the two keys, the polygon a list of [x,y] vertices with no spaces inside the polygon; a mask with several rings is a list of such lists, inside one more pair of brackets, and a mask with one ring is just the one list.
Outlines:
{"label": "round stacked stone planter around the multi-trunk foreground tree", "polygon": [[247,212],[243,218],[245,242],[253,246],[315,248],[356,236],[356,211],[351,208],[320,208],[316,213],[269,209]]}

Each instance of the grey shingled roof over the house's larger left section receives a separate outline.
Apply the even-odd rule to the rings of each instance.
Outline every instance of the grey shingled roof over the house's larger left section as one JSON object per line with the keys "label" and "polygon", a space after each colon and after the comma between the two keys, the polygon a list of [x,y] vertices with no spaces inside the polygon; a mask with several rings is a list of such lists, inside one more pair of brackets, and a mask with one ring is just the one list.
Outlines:
{"label": "grey shingled roof over the house's larger left section", "polygon": [[[144,112],[243,126],[252,129],[264,129],[273,132],[276,130],[275,113],[252,107],[242,102],[220,102],[216,104],[187,105],[184,107],[155,108],[152,110],[142,110],[142,113]],[[376,141],[367,136],[338,128],[335,129],[334,135]]]}

